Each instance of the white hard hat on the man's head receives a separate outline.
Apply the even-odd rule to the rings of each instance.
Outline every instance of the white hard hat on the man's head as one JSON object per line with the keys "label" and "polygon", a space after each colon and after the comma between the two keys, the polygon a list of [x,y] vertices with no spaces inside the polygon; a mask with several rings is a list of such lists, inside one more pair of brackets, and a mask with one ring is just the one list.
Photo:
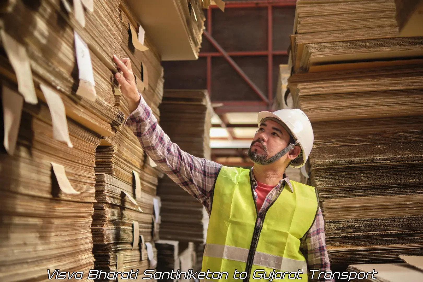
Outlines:
{"label": "white hard hat on the man's head", "polygon": [[301,148],[298,157],[291,162],[290,166],[294,168],[302,167],[307,162],[314,142],[313,129],[307,115],[300,109],[263,111],[257,115],[258,126],[260,127],[260,124],[268,118],[280,120],[286,126],[288,133],[294,138],[295,145],[299,145]]}

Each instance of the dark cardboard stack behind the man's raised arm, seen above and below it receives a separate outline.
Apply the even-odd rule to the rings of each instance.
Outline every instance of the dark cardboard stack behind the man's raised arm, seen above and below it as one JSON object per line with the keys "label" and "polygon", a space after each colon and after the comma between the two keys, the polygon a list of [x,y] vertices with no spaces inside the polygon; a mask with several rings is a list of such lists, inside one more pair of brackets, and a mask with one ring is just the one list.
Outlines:
{"label": "dark cardboard stack behind the man's raised arm, seen above and below it", "polygon": [[[165,90],[160,126],[181,150],[210,159],[211,104],[206,90]],[[160,238],[203,242],[204,207],[168,176],[159,181],[162,201]]]}

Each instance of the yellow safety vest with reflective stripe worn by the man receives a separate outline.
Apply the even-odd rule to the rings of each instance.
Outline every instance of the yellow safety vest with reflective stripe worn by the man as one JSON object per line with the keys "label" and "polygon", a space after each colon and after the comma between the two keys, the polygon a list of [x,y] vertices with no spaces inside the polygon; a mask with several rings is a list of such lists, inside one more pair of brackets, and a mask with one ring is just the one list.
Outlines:
{"label": "yellow safety vest with reflective stripe worn by the man", "polygon": [[[291,184],[294,192],[282,189],[258,225],[250,170],[221,168],[203,255],[202,271],[209,271],[201,277],[204,281],[291,281],[294,277],[308,281],[307,263],[299,246],[313,225],[319,201],[314,187]],[[234,279],[235,270],[238,279]]]}

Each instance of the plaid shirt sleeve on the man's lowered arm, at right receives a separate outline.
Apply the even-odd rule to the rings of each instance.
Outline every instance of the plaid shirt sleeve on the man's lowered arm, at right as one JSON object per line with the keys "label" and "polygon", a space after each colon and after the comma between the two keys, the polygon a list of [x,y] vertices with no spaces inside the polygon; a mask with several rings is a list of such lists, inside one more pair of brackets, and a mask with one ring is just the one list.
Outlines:
{"label": "plaid shirt sleeve on the man's lowered arm, at right", "polygon": [[[335,282],[335,279],[325,279],[324,274],[319,272],[330,272],[330,261],[326,250],[326,239],[324,235],[324,220],[321,209],[316,216],[313,226],[308,231],[301,244],[301,250],[307,260],[309,281],[311,282]],[[314,271],[314,277],[311,279]]]}

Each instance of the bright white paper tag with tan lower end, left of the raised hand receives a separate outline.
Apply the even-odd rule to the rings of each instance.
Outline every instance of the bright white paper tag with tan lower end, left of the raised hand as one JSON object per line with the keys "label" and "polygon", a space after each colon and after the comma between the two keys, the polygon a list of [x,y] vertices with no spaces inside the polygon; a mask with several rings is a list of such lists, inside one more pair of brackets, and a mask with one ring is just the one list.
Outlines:
{"label": "bright white paper tag with tan lower end, left of the raised hand", "polygon": [[94,72],[91,63],[90,50],[76,31],[74,31],[74,38],[79,71],[78,77],[80,79],[77,95],[90,101],[96,101],[97,94],[96,89],[94,88]]}

